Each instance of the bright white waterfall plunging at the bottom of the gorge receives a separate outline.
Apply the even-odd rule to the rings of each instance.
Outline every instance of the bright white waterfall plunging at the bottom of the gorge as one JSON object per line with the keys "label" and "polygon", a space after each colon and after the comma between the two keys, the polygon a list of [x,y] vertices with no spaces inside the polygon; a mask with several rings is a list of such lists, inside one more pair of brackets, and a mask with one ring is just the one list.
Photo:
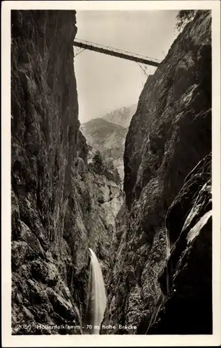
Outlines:
{"label": "bright white waterfall plunging at the bottom of the gorge", "polygon": [[89,248],[91,253],[91,267],[89,276],[89,301],[88,310],[90,311],[89,333],[99,334],[100,323],[105,314],[107,297],[105,293],[105,283],[102,277],[102,270],[96,254]]}

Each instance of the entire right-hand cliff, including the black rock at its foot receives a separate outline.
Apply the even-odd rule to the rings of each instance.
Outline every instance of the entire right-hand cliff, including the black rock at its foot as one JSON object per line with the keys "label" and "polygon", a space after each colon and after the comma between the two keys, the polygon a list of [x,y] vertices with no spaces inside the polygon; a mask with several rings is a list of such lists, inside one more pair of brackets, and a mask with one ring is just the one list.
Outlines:
{"label": "entire right-hand cliff, including the black rock at its foot", "polygon": [[198,11],[130,122],[103,321],[116,329],[101,333],[211,333],[210,152],[211,13]]}

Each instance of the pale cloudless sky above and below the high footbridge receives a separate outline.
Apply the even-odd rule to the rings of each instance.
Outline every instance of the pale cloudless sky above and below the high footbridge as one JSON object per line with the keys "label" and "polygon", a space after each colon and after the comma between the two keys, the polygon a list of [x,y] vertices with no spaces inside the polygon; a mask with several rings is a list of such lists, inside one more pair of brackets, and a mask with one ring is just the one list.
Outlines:
{"label": "pale cloudless sky above and below the high footbridge", "polygon": [[[177,13],[81,10],[77,11],[76,38],[162,60],[177,36]],[[154,71],[148,66],[146,73]],[[81,123],[136,104],[146,81],[137,63],[89,50],[75,56],[75,75]]]}

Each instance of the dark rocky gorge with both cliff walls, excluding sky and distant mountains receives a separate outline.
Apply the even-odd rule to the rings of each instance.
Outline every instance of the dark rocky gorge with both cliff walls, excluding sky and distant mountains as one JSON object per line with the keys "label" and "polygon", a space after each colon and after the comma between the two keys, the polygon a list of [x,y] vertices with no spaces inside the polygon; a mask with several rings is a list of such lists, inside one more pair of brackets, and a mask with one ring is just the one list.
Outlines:
{"label": "dark rocky gorge with both cliff walls, excluding sky and distant mountains", "polygon": [[12,333],[212,334],[211,11],[119,123],[123,189],[80,131],[76,34],[74,10],[11,11]]}

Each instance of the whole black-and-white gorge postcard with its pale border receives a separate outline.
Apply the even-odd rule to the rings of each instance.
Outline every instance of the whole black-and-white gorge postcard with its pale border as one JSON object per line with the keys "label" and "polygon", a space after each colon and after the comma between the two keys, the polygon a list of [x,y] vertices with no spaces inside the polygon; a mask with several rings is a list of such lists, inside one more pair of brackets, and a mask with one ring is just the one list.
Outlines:
{"label": "whole black-and-white gorge postcard with its pale border", "polygon": [[99,2],[10,8],[9,335],[213,338],[218,1]]}

